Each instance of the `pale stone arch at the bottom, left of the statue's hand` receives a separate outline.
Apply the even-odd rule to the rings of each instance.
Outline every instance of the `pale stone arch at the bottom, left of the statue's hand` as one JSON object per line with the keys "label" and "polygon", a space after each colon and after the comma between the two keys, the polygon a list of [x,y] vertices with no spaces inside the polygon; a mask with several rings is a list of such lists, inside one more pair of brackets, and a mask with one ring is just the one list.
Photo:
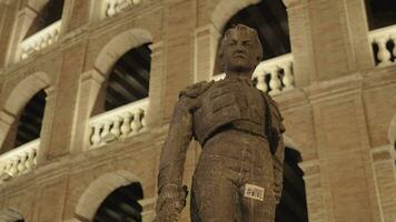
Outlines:
{"label": "pale stone arch at the bottom, left of the statue's hand", "polygon": [[137,175],[125,170],[99,176],[88,185],[78,201],[77,218],[91,221],[100,204],[112,191],[133,182],[140,182],[140,180]]}

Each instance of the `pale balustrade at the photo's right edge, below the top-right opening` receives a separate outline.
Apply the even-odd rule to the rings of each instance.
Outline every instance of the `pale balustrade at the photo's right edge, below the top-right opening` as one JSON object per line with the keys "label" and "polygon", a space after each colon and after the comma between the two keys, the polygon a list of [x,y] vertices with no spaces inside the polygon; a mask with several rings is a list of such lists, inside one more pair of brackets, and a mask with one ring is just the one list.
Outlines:
{"label": "pale balustrade at the photo's right edge, below the top-right opening", "polygon": [[[368,39],[373,47],[378,48],[378,52],[374,54],[378,65],[388,65],[395,63],[396,26],[385,27],[370,31]],[[390,46],[393,46],[393,49]]]}

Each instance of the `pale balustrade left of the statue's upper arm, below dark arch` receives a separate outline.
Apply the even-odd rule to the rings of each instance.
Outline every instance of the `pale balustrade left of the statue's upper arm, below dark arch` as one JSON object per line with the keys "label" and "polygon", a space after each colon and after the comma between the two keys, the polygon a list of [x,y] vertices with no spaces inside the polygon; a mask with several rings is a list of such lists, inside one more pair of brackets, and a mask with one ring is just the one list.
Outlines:
{"label": "pale balustrade left of the statue's upper arm, below dark arch", "polygon": [[148,104],[149,99],[146,98],[91,118],[89,121],[91,148],[145,131]]}

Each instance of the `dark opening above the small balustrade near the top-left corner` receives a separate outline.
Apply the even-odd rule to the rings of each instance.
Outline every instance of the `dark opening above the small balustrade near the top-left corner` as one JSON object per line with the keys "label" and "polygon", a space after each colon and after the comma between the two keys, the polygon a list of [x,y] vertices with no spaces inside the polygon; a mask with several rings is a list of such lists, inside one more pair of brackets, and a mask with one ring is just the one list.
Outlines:
{"label": "dark opening above the small balustrade near the top-left corner", "polygon": [[23,39],[31,37],[62,17],[65,0],[50,0],[38,12]]}

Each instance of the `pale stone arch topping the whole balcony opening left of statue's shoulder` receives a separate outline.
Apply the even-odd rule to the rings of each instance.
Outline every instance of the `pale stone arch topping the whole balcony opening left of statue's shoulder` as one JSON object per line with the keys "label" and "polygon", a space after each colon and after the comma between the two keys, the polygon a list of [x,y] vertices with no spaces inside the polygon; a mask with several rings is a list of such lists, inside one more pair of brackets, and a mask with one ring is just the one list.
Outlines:
{"label": "pale stone arch topping the whole balcony opening left of statue's shoulder", "polygon": [[128,50],[152,41],[152,36],[143,29],[130,29],[112,38],[99,52],[95,68],[108,75],[112,65]]}

